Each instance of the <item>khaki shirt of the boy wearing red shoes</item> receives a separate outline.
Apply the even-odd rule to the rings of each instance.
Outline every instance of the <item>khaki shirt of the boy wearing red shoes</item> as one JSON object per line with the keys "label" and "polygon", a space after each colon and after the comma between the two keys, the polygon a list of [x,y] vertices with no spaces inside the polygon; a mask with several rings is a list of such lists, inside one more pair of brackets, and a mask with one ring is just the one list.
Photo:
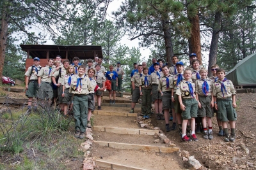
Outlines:
{"label": "khaki shirt of the boy wearing red shoes", "polygon": [[[193,87],[193,96],[196,97],[195,95],[195,83],[192,83],[190,81],[192,87]],[[190,95],[190,92],[189,92],[189,87],[188,87],[188,83],[186,83],[186,80],[182,80],[180,81],[178,87],[177,87],[177,90],[176,90],[176,94],[178,96],[181,96],[182,98],[184,99],[191,99],[192,96]]]}

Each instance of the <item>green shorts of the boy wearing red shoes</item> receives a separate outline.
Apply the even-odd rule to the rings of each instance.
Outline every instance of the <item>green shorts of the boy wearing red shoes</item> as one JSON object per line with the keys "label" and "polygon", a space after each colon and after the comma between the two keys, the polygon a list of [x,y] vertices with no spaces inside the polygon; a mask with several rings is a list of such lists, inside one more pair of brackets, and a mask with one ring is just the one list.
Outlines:
{"label": "green shorts of the boy wearing red shoes", "polygon": [[198,112],[198,102],[195,98],[191,99],[182,99],[182,103],[186,106],[186,110],[182,111],[181,117],[184,120],[197,117]]}

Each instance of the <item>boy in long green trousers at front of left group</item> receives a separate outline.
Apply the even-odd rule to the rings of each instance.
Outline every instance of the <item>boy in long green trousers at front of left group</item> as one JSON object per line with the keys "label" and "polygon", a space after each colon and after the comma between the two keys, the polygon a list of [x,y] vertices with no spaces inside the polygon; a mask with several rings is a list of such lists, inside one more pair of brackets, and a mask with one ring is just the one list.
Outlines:
{"label": "boy in long green trousers at front of left group", "polygon": [[88,96],[90,91],[94,90],[90,83],[90,79],[85,75],[85,66],[78,67],[78,74],[74,74],[71,78],[69,92],[73,94],[73,110],[76,121],[75,138],[83,139],[87,127],[88,117]]}

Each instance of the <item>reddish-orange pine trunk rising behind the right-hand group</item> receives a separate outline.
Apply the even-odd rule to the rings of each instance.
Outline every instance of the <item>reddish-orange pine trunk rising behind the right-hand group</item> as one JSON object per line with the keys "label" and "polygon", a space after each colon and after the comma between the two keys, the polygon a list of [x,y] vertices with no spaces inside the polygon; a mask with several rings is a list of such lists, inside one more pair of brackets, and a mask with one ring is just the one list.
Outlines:
{"label": "reddish-orange pine trunk rising behind the right-hand group", "polygon": [[196,15],[193,18],[190,18],[191,21],[191,52],[196,53],[197,59],[202,63],[201,57],[201,41],[200,41],[200,23],[199,17]]}

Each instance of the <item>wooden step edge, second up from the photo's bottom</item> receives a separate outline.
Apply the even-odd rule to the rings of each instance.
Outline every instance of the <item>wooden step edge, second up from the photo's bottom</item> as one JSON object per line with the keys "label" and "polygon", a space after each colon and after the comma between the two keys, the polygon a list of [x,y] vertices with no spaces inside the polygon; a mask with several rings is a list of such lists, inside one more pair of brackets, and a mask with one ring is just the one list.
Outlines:
{"label": "wooden step edge, second up from the photo's bottom", "polygon": [[172,153],[178,152],[180,148],[165,147],[165,146],[152,146],[152,145],[138,145],[130,143],[115,143],[108,141],[93,141],[100,146],[108,146],[109,148],[124,149],[124,150],[139,150],[143,152],[158,152],[158,153]]}

